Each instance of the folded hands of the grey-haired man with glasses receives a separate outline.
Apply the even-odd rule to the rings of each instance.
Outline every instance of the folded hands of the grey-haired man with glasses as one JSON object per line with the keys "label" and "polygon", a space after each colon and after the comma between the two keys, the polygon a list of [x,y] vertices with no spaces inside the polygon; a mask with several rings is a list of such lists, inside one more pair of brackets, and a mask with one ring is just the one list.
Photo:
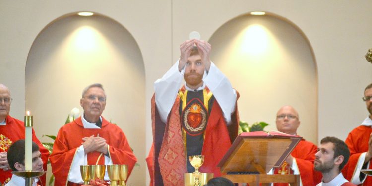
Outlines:
{"label": "folded hands of the grey-haired man with glasses", "polygon": [[101,152],[104,155],[108,153],[106,139],[99,136],[91,135],[90,137],[84,137],[81,143],[84,147],[85,154],[93,151]]}

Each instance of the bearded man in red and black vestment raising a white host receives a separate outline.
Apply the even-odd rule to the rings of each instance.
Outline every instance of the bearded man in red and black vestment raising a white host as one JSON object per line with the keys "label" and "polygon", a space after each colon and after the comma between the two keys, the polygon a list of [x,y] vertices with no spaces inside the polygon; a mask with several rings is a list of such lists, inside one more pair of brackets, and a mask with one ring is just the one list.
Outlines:
{"label": "bearded man in red and black vestment raising a white host", "polygon": [[147,161],[155,186],[184,185],[184,173],[194,171],[190,155],[204,155],[200,171],[218,177],[217,164],[238,133],[237,92],[210,61],[211,45],[191,39],[180,51],[176,64],[154,83],[154,150]]}

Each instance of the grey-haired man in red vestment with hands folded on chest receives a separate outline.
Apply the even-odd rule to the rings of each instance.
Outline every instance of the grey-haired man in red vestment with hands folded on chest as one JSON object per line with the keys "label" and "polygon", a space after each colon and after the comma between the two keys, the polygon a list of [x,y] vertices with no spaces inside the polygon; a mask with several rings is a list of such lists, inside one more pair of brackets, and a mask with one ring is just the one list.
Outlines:
{"label": "grey-haired man in red vestment with hands folded on chest", "polygon": [[[102,85],[85,88],[80,105],[84,114],[61,127],[53,146],[55,186],[81,185],[80,165],[126,164],[130,175],[137,158],[122,129],[101,116],[106,106]],[[109,180],[107,170],[104,180]]]}

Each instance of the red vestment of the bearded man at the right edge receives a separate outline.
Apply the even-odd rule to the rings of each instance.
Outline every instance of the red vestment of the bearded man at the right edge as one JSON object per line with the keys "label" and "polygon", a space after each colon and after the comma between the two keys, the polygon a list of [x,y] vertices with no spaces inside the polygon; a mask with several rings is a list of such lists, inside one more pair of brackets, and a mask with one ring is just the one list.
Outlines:
{"label": "red vestment of the bearded man at the right edge", "polygon": [[[346,179],[350,179],[354,175],[354,171],[357,167],[359,156],[363,152],[368,151],[368,141],[372,128],[370,126],[360,125],[354,128],[346,138],[345,143],[348,145],[350,150],[350,158],[346,166],[342,169]],[[370,167],[366,169],[372,169],[372,159],[370,160]],[[363,186],[372,186],[372,177],[367,176],[366,180],[363,183]]]}

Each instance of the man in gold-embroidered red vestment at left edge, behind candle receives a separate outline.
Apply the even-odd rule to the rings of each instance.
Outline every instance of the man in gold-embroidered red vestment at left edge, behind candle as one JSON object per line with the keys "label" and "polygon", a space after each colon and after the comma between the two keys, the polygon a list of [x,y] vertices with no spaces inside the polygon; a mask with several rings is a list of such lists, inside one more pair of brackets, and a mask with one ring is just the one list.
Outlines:
{"label": "man in gold-embroidered red vestment at left edge, behind candle", "polygon": [[[25,138],[25,126],[23,121],[15,119],[9,115],[11,105],[10,90],[0,84],[0,186],[4,186],[11,179],[11,169],[9,167],[6,153],[9,146]],[[32,141],[40,148],[41,159],[43,160],[44,171],[47,170],[49,151],[44,148],[32,129]],[[39,184],[45,186],[46,175],[40,177]]]}

